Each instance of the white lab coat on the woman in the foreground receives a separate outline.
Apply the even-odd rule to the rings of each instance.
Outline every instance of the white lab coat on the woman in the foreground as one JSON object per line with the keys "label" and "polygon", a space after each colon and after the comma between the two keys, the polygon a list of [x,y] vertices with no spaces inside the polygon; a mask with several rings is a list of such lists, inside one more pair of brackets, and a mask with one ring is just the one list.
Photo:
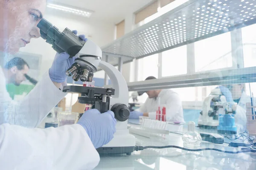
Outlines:
{"label": "white lab coat on the woman in the foreground", "polygon": [[99,154],[81,125],[28,128],[38,126],[65,95],[46,73],[25,99],[14,102],[0,67],[1,170],[91,170],[97,166]]}

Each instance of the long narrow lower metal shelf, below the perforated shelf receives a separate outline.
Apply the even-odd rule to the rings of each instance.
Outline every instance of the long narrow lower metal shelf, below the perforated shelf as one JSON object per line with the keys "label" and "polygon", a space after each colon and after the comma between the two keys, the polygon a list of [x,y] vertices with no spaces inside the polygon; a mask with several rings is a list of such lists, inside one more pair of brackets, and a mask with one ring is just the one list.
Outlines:
{"label": "long narrow lower metal shelf, below the perforated shelf", "polygon": [[209,71],[161,79],[127,83],[129,91],[198,87],[256,82],[256,67]]}

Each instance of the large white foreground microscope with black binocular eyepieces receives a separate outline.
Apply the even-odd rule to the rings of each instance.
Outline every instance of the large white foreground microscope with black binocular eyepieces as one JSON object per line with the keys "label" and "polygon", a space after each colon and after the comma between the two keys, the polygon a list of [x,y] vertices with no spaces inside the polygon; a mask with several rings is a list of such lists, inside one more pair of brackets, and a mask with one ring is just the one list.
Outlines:
{"label": "large white foreground microscope with black binocular eyepieces", "polygon": [[135,137],[127,129],[130,110],[128,108],[128,87],[122,74],[111,64],[102,61],[102,50],[91,40],[84,42],[70,29],[63,32],[53,26],[44,18],[38,23],[41,37],[58,53],[66,52],[76,57],[74,64],[67,68],[67,76],[73,76],[74,81],[91,82],[97,67],[102,68],[113,83],[113,88],[95,88],[83,86],[64,86],[64,92],[79,93],[79,103],[93,105],[101,113],[108,110],[115,114],[116,133],[114,138],[104,146],[97,149],[99,154],[131,155],[134,151]]}

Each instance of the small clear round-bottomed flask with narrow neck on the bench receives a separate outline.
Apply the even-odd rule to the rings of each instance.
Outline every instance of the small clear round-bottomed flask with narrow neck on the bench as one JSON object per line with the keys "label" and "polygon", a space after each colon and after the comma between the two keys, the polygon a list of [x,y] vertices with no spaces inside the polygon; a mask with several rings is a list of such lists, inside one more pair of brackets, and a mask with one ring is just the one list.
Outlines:
{"label": "small clear round-bottomed flask with narrow neck on the bench", "polygon": [[198,148],[202,137],[195,131],[195,122],[188,123],[188,131],[182,135],[183,146],[187,148]]}

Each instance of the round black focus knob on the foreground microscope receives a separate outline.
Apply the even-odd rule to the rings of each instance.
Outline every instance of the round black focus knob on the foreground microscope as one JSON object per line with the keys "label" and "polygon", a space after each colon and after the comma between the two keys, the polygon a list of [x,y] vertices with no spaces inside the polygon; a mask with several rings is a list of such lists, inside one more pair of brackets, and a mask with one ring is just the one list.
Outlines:
{"label": "round black focus knob on the foreground microscope", "polygon": [[114,112],[116,120],[118,120],[120,122],[124,122],[130,116],[130,110],[124,104],[116,103],[111,108],[111,111]]}

